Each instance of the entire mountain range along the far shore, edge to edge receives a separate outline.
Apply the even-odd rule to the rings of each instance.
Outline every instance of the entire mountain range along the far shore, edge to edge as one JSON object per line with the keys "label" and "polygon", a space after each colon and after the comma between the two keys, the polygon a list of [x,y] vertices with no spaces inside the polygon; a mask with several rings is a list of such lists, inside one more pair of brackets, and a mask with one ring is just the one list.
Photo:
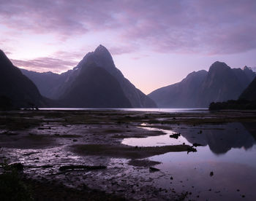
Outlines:
{"label": "entire mountain range along the far shore, edge to edge", "polygon": [[102,45],[63,74],[19,69],[0,51],[0,109],[31,106],[202,108],[211,102],[236,100],[240,95],[242,99],[255,101],[255,76],[246,66],[230,68],[217,61],[209,71],[194,71],[181,82],[159,88],[147,96],[116,68],[110,52]]}

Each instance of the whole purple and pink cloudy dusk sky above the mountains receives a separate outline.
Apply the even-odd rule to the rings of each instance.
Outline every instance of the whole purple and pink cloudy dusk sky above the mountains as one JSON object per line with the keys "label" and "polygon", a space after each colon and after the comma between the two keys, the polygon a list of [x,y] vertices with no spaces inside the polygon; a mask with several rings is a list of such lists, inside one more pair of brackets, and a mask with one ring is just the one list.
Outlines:
{"label": "whole purple and pink cloudy dusk sky above the mountains", "polygon": [[223,61],[256,66],[255,0],[0,0],[0,49],[61,73],[104,45],[148,94]]}

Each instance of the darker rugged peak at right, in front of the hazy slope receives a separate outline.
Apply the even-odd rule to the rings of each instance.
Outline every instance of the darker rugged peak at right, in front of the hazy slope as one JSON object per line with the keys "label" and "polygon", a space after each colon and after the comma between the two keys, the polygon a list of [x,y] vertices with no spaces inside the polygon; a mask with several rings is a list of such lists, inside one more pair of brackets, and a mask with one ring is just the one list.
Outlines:
{"label": "darker rugged peak at right, in front of the hazy slope", "polygon": [[255,73],[249,68],[230,68],[226,63],[211,65],[206,80],[200,88],[200,106],[211,102],[236,100],[254,79]]}

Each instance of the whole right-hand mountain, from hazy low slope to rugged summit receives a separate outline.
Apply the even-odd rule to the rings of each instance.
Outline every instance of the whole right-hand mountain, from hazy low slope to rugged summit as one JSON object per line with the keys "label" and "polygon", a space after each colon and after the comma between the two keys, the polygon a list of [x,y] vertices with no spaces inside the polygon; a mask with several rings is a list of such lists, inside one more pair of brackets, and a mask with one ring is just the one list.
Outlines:
{"label": "whole right-hand mountain, from hazy low slope to rugged summit", "polygon": [[162,87],[148,96],[159,107],[208,107],[211,102],[236,100],[254,78],[255,72],[246,66],[230,68],[217,61],[208,72],[193,72],[181,82]]}

